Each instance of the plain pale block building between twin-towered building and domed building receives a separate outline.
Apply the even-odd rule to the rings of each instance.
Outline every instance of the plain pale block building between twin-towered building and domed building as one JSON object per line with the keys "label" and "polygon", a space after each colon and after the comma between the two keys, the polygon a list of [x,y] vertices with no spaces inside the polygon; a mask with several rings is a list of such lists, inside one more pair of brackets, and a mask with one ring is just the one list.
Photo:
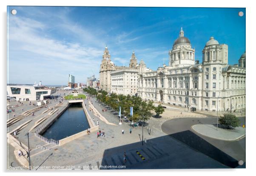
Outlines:
{"label": "plain pale block building between twin-towered building and domed building", "polygon": [[123,95],[135,95],[138,86],[137,69],[121,69],[112,71],[111,75],[111,93]]}

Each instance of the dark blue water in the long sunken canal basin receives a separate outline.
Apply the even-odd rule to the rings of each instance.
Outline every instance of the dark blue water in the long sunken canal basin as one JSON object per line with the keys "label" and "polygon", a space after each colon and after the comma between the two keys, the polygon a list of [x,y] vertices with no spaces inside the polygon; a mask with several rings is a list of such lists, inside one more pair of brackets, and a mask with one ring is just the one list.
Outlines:
{"label": "dark blue water in the long sunken canal basin", "polygon": [[80,103],[71,103],[65,112],[43,133],[47,139],[60,140],[90,128]]}

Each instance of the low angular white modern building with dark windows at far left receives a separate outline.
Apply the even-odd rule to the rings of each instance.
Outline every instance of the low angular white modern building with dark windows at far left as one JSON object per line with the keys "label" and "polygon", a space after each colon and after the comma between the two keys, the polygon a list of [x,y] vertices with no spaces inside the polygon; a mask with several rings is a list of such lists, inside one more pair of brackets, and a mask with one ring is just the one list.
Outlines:
{"label": "low angular white modern building with dark windows at far left", "polygon": [[7,85],[7,93],[16,98],[16,101],[35,101],[51,95],[51,89],[45,86]]}

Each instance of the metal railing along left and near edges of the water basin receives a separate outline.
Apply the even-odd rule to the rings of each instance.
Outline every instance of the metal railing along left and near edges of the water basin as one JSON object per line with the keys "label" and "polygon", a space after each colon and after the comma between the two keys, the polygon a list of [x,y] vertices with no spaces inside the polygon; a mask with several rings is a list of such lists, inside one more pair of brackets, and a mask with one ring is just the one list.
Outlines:
{"label": "metal railing along left and near edges of the water basin", "polygon": [[[60,109],[60,112],[65,109],[68,106],[68,103],[66,103],[63,108]],[[49,120],[46,121],[46,123],[44,123],[43,125],[41,125],[35,132],[34,135],[35,137],[39,138],[40,140],[43,140],[46,143],[54,143],[55,145],[59,145],[60,141],[59,140],[54,140],[54,139],[47,139],[46,137],[41,136],[39,133],[42,132],[49,124],[51,124],[52,121],[54,121],[55,118],[57,118],[57,116],[59,115],[59,113],[51,115]]]}

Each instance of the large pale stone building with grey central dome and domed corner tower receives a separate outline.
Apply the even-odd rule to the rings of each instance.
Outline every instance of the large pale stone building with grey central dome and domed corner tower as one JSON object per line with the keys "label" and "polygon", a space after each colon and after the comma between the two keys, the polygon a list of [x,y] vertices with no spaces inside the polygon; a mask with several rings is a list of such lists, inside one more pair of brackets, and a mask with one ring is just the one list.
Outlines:
{"label": "large pale stone building with grey central dome and domed corner tower", "polygon": [[181,29],[169,51],[169,65],[156,71],[138,69],[138,96],[142,99],[193,110],[234,111],[245,108],[245,53],[239,65],[228,65],[228,45],[210,37],[202,63]]}

